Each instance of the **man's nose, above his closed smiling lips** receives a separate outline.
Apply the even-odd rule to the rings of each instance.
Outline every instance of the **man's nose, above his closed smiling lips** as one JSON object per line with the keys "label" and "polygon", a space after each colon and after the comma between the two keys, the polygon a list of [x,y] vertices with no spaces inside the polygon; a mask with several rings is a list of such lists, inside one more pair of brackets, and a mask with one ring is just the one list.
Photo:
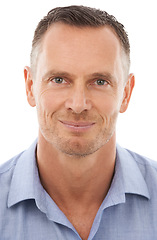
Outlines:
{"label": "man's nose, above his closed smiling lips", "polygon": [[91,100],[88,97],[87,89],[82,86],[76,86],[72,89],[70,96],[66,100],[65,107],[71,109],[74,113],[81,113],[90,110]]}

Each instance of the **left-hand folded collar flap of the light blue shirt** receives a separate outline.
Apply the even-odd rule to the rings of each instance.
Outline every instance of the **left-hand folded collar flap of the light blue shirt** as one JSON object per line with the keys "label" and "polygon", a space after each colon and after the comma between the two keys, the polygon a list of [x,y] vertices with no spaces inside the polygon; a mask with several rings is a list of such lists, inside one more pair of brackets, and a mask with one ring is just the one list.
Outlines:
{"label": "left-hand folded collar flap of the light blue shirt", "polygon": [[18,158],[12,176],[8,207],[26,199],[35,199],[37,192],[41,191],[36,166],[36,145],[37,140]]}

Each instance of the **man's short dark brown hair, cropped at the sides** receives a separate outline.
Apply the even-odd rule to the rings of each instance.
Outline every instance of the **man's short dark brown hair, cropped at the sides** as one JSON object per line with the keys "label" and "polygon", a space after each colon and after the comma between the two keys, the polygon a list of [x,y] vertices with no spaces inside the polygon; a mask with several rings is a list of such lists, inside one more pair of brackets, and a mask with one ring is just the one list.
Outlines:
{"label": "man's short dark brown hair, cropped at the sides", "polygon": [[[85,7],[85,6],[68,6],[68,7],[57,7],[48,12],[48,14],[41,19],[34,33],[32,41],[31,51],[31,67],[35,65],[37,60],[40,43],[43,39],[46,31],[54,23],[64,23],[76,27],[102,27],[108,26],[117,35],[123,52],[125,53],[125,68],[129,71],[130,66],[130,44],[128,34],[124,29],[124,26],[119,23],[116,18],[109,15],[105,11],[99,9]],[[127,67],[126,67],[127,65]]]}

